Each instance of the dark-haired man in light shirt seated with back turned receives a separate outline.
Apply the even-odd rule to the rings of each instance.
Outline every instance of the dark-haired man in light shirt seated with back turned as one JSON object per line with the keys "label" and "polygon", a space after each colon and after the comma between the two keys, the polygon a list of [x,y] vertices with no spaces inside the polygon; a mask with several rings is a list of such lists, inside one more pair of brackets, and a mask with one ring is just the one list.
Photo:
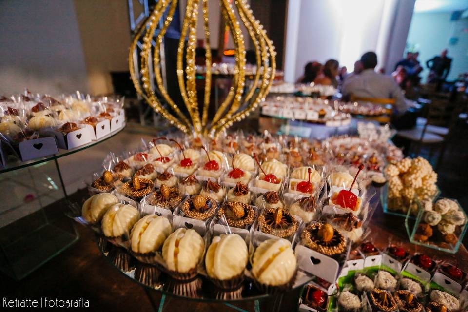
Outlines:
{"label": "dark-haired man in light shirt seated with back turned", "polygon": [[405,97],[395,80],[375,72],[377,55],[374,52],[364,53],[361,57],[363,71],[353,79],[345,80],[342,94],[362,98],[395,98],[394,114],[401,115],[407,110]]}

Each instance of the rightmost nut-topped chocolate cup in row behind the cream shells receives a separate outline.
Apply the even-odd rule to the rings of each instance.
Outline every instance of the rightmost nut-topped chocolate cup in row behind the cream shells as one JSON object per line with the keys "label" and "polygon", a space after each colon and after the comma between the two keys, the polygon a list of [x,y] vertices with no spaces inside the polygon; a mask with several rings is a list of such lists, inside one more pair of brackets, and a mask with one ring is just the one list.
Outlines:
{"label": "rightmost nut-topped chocolate cup in row behind the cream shells", "polygon": [[302,244],[316,252],[335,256],[345,252],[346,239],[328,223],[309,224],[301,234]]}

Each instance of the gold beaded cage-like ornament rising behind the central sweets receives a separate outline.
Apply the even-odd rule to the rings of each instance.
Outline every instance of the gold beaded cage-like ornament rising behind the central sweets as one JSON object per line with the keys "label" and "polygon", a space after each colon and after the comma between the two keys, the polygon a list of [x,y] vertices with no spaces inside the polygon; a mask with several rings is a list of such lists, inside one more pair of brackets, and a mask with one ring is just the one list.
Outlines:
{"label": "gold beaded cage-like ornament rising behind the central sweets", "polygon": [[[202,114],[199,113],[197,100],[197,90],[195,84],[195,47],[196,47],[196,27],[198,22],[199,3],[202,2],[203,29],[205,33],[205,87],[202,105]],[[150,16],[145,20],[132,40],[129,54],[130,74],[135,84],[135,88],[146,102],[163,117],[174,124],[179,130],[187,134],[209,135],[216,137],[223,130],[229,128],[234,122],[240,121],[249,116],[258,104],[265,100],[275,73],[275,51],[273,42],[268,39],[266,31],[258,20],[255,20],[252,10],[246,0],[219,0],[221,14],[226,21],[226,26],[233,38],[235,51],[234,76],[230,90],[216,111],[211,121],[208,121],[208,109],[210,106],[211,78],[212,78],[212,56],[210,48],[210,30],[208,17],[208,0],[188,0],[185,17],[182,23],[181,36],[177,49],[177,79],[182,95],[183,104],[175,103],[170,98],[164,87],[161,76],[161,51],[160,44],[163,42],[169,24],[173,20],[178,0],[159,0]],[[166,18],[163,18],[167,11]],[[246,50],[244,35],[242,34],[240,23],[236,17],[236,11],[242,23],[247,29],[248,36],[252,39],[256,58],[256,73],[252,87],[244,94],[245,90],[245,66]],[[154,46],[151,41],[160,20],[163,19],[162,27],[156,36]],[[186,39],[187,38],[187,39]],[[142,39],[140,65],[135,64],[133,52],[137,48],[139,40]],[[186,51],[184,68],[184,51]],[[152,58],[151,58],[152,56]],[[141,78],[137,76],[135,69],[139,69]],[[156,83],[151,83],[150,71],[153,71]],[[154,85],[154,88],[153,88]],[[156,97],[155,89],[165,101],[165,105]],[[186,116],[179,109],[179,105],[185,105],[188,110]]]}

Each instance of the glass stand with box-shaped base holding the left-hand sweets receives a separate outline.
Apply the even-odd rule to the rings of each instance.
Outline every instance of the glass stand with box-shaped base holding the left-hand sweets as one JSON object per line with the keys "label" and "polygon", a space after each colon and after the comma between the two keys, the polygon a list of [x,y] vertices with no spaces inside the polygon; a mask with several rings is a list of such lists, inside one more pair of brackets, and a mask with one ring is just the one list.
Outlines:
{"label": "glass stand with box-shaped base holding the left-hand sweets", "polygon": [[122,129],[48,157],[21,161],[9,156],[6,167],[0,168],[2,273],[20,280],[78,240],[73,222],[55,217],[49,206],[67,198],[57,159],[97,145]]}

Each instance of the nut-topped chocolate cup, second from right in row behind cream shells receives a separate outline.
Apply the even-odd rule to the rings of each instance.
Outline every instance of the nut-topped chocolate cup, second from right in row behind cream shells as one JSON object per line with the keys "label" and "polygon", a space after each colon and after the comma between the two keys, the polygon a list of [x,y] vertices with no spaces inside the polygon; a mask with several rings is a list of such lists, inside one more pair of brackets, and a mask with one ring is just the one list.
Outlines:
{"label": "nut-topped chocolate cup, second from right in row behind cream shells", "polygon": [[283,238],[296,232],[298,222],[289,211],[268,208],[258,217],[258,224],[263,233]]}

